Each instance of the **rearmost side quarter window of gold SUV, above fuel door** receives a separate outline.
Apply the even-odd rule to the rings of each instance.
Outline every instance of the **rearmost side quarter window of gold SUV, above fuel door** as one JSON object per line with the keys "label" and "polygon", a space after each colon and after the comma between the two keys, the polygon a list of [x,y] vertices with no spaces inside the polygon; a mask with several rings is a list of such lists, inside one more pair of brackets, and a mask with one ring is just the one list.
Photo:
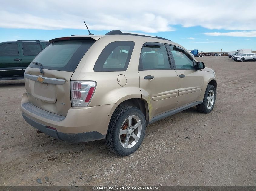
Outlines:
{"label": "rearmost side quarter window of gold SUV, above fuel door", "polygon": [[131,59],[134,42],[116,41],[109,43],[98,57],[95,72],[125,71]]}

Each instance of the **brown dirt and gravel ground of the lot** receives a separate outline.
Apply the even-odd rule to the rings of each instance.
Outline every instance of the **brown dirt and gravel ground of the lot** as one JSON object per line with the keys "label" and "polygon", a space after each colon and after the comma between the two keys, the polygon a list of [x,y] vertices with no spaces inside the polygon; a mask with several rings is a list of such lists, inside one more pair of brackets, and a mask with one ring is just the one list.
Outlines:
{"label": "brown dirt and gravel ground of the lot", "polygon": [[0,81],[0,185],[256,185],[256,62],[198,60],[217,75],[214,110],[193,107],[149,125],[127,157],[103,141],[37,135],[21,115],[24,81]]}

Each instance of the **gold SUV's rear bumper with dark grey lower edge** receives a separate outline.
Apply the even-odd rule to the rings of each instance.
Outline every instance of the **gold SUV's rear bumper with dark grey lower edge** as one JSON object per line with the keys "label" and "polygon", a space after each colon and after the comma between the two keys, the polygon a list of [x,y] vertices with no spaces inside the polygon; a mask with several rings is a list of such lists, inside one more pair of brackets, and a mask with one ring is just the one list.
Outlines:
{"label": "gold SUV's rear bumper with dark grey lower edge", "polygon": [[21,110],[28,124],[52,137],[64,141],[87,142],[105,138],[110,118],[117,105],[71,107],[67,116],[60,116],[34,106],[24,93]]}

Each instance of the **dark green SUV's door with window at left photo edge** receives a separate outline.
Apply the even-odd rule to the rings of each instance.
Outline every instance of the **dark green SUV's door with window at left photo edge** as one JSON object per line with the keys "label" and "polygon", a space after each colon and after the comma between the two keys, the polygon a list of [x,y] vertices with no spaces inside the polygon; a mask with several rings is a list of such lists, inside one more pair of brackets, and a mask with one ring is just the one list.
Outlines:
{"label": "dark green SUV's door with window at left photo edge", "polygon": [[23,75],[18,43],[0,44],[0,77]]}

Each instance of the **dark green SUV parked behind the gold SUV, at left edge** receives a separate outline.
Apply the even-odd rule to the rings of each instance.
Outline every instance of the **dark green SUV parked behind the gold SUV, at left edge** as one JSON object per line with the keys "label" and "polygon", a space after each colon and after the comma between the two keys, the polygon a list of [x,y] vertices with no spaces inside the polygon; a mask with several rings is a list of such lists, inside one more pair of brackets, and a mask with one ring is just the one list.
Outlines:
{"label": "dark green SUV parked behind the gold SUV, at left edge", "polygon": [[25,69],[49,41],[17,40],[0,43],[0,80],[24,79]]}

